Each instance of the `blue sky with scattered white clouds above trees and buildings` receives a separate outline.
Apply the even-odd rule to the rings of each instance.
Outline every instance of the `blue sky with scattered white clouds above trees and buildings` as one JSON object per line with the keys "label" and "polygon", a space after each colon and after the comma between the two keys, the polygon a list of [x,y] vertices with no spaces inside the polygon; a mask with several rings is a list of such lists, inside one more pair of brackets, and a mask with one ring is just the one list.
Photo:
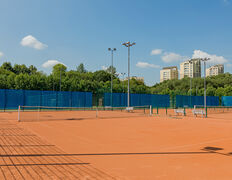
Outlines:
{"label": "blue sky with scattered white clouds above trees and buildings", "polygon": [[230,0],[1,0],[0,64],[50,73],[56,62],[69,70],[84,63],[95,71],[110,65],[111,47],[122,73],[121,44],[132,41],[131,75],[148,85],[159,82],[162,67],[191,57],[211,57],[208,66],[232,72],[231,19]]}

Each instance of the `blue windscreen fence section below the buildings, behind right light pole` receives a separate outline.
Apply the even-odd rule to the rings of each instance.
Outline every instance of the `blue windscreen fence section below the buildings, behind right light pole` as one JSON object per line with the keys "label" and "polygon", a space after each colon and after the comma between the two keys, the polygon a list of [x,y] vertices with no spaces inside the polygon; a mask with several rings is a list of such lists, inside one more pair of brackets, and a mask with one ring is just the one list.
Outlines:
{"label": "blue windscreen fence section below the buildings, behind right light pole", "polygon": [[[183,96],[176,95],[176,107],[194,107],[194,105],[204,105],[204,96]],[[207,106],[219,106],[218,96],[206,96]]]}

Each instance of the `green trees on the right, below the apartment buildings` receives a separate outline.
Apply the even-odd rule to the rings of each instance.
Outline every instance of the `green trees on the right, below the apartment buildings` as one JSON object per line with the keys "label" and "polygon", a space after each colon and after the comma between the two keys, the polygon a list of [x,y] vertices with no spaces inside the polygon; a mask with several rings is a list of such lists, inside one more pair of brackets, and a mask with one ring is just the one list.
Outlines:
{"label": "green trees on the right, below the apartment buildings", "polygon": [[[206,78],[207,96],[232,96],[232,75],[229,73],[220,74]],[[185,77],[181,80],[167,80],[151,87],[154,94],[169,95],[204,95],[204,79],[192,79],[192,91],[190,93],[190,78]]]}

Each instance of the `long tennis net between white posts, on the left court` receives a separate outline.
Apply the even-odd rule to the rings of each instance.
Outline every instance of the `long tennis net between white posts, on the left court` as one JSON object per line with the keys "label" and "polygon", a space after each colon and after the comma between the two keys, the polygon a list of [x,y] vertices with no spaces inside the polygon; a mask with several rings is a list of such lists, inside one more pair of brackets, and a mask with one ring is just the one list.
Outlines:
{"label": "long tennis net between white posts, on the left court", "polygon": [[150,106],[135,107],[46,107],[19,106],[18,121],[84,120],[95,118],[127,118],[151,115]]}

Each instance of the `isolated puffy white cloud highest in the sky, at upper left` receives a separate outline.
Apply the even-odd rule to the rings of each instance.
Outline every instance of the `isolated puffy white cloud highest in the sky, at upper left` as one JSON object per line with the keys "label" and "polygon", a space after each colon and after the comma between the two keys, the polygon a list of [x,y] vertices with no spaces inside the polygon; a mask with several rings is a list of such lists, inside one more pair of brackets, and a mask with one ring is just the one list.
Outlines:
{"label": "isolated puffy white cloud highest in the sky, at upper left", "polygon": [[41,43],[32,35],[28,35],[28,36],[24,37],[21,40],[21,45],[31,47],[31,48],[34,48],[37,50],[42,50],[42,49],[45,49],[46,47],[48,47],[46,44]]}

